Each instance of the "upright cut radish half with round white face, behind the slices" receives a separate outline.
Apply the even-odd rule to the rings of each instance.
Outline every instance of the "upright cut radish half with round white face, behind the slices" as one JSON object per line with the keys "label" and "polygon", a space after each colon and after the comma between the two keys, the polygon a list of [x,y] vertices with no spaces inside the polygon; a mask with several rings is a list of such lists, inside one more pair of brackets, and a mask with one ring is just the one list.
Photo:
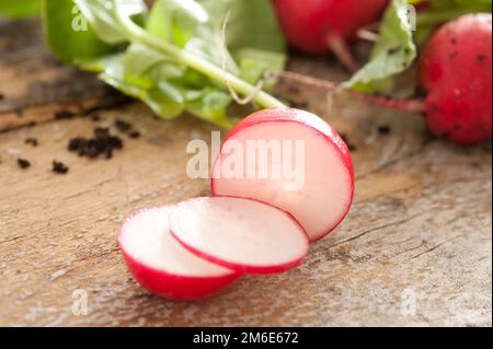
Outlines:
{"label": "upright cut radish half with round white face, behind the slices", "polygon": [[[251,151],[255,141],[256,158]],[[276,143],[280,159],[273,155]],[[265,154],[266,144],[272,152],[262,176],[260,168],[265,162],[259,153]],[[303,144],[303,151],[295,156],[297,144]],[[243,152],[242,176],[233,174],[239,149]],[[254,176],[248,174],[252,170]],[[296,187],[297,182],[302,185]],[[299,109],[265,109],[243,119],[228,135],[213,168],[211,186],[213,195],[252,198],[290,212],[316,241],[335,229],[351,208],[353,162],[342,138],[318,116]]]}

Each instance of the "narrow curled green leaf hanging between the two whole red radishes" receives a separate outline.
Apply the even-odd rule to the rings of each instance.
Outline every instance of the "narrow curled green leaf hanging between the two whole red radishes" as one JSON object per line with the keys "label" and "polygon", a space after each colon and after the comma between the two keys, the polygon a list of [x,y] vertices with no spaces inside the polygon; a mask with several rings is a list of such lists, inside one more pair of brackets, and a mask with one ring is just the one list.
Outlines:
{"label": "narrow curled green leaf hanging between the two whole red radishes", "polygon": [[389,92],[393,77],[411,67],[416,57],[412,27],[405,12],[405,0],[393,0],[380,25],[380,39],[369,62],[344,83],[359,92]]}

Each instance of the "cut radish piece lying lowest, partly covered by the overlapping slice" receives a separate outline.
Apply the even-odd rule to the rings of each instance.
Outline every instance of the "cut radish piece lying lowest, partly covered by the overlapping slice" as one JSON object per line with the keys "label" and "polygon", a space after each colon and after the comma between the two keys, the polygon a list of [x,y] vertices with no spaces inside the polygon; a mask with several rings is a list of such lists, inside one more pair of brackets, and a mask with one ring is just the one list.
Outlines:
{"label": "cut radish piece lying lowest, partly covered by the overlapping slice", "polygon": [[150,292],[176,301],[204,298],[233,282],[237,272],[196,257],[171,236],[171,209],[140,211],[122,228],[118,242],[135,279]]}

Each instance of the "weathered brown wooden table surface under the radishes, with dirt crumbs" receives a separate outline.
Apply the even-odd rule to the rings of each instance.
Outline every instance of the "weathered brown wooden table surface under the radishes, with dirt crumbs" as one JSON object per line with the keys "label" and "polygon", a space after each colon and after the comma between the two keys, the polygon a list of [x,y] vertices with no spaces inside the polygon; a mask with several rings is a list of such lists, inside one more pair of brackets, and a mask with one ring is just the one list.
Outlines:
{"label": "weathered brown wooden table surface under the radishes, with dirt crumbs", "polygon": [[[289,69],[346,78],[326,59],[293,57]],[[296,270],[173,303],[136,284],[116,235],[139,208],[209,194],[207,182],[185,175],[185,146],[209,140],[214,128],[190,116],[158,120],[57,63],[36,21],[0,23],[0,325],[492,325],[491,144],[458,148],[432,139],[421,117],[344,96],[329,113],[324,92],[284,82],[278,96],[306,104],[356,148],[355,205]],[[102,103],[100,121],[54,119]],[[67,151],[69,138],[115,118],[142,137],[125,139],[111,161]],[[25,144],[28,137],[39,146]],[[18,158],[32,167],[21,170]],[[51,173],[53,160],[69,173]],[[84,292],[88,314],[74,314]]]}

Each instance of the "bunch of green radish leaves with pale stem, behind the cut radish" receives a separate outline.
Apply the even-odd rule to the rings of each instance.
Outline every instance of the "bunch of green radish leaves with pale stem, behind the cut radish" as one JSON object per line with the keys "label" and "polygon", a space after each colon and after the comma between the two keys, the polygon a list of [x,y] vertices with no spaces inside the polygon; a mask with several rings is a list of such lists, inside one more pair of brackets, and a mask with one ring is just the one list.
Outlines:
{"label": "bunch of green radish leaves with pale stem, behind the cut radish", "polygon": [[[158,0],[151,10],[142,0],[43,3],[48,43],[62,61],[98,72],[162,118],[188,112],[229,128],[236,120],[227,117],[233,100],[228,88],[252,95],[262,107],[284,105],[266,92],[274,81],[266,81],[264,91],[254,86],[286,65],[285,42],[268,1]],[[55,9],[60,5],[64,11]],[[73,31],[68,11],[80,11],[87,30]]]}

